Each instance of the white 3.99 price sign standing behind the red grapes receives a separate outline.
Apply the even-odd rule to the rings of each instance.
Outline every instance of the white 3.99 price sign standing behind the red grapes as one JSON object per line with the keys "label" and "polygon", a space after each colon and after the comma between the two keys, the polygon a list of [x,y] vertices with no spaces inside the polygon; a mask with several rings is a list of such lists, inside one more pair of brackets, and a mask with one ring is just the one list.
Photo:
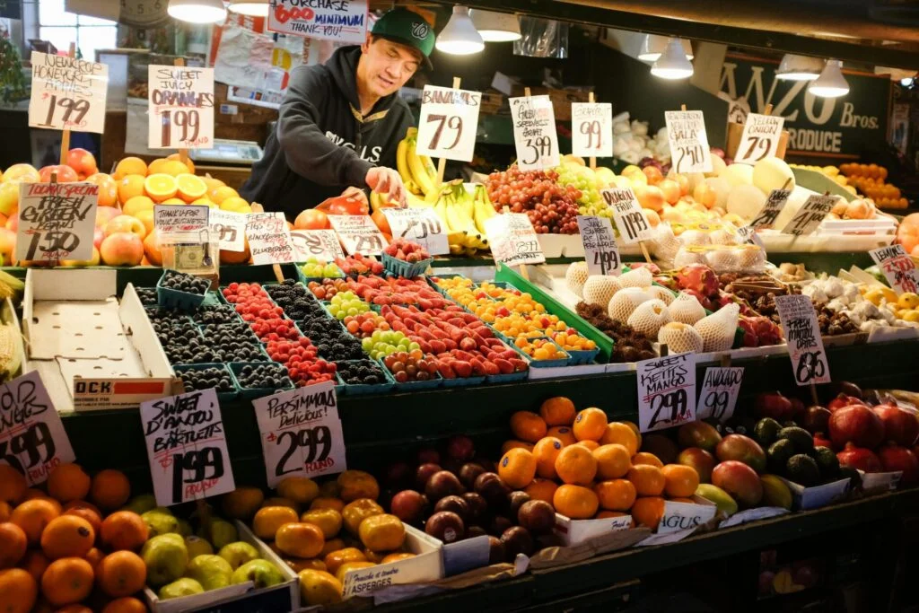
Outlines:
{"label": "white 3.99 price sign standing behind the red grapes", "polygon": [[514,122],[517,165],[521,170],[541,170],[559,165],[559,135],[549,96],[510,98]]}

